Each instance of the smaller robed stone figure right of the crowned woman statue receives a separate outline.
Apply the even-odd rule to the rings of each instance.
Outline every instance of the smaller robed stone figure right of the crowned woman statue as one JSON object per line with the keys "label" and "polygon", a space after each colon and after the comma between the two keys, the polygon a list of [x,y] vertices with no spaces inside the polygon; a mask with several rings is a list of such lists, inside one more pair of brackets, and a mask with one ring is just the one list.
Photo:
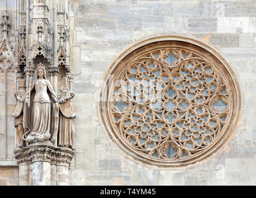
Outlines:
{"label": "smaller robed stone figure right of the crowned woman statue", "polygon": [[75,112],[71,99],[75,96],[75,94],[68,90],[68,84],[65,77],[62,78],[59,88],[62,93],[59,100],[60,126],[58,131],[58,146],[70,147],[73,149],[73,139],[75,133],[73,118],[75,118]]}

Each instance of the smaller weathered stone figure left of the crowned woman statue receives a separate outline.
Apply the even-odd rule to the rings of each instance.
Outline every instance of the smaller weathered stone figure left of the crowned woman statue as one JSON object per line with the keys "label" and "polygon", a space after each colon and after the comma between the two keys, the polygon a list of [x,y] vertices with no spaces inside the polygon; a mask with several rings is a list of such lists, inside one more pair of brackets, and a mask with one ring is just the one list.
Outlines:
{"label": "smaller weathered stone figure left of the crowned woman statue", "polygon": [[22,148],[24,147],[24,140],[22,139],[22,136],[24,135],[24,129],[22,122],[25,97],[25,79],[19,80],[19,91],[17,91],[14,96],[16,98],[16,106],[12,116],[14,116],[14,126],[16,128],[17,134],[17,146]]}

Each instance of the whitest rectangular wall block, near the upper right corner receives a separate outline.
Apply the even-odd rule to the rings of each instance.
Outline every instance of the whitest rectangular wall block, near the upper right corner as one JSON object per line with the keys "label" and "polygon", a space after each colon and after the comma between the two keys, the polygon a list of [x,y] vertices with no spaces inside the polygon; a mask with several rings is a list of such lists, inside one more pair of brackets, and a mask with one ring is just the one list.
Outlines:
{"label": "whitest rectangular wall block, near the upper right corner", "polygon": [[217,32],[247,33],[249,32],[248,17],[217,17]]}

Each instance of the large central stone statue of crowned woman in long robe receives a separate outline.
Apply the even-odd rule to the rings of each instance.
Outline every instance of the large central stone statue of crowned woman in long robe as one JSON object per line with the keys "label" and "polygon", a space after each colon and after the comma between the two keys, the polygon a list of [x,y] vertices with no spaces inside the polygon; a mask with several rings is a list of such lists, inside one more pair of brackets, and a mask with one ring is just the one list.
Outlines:
{"label": "large central stone statue of crowned woman in long robe", "polygon": [[36,79],[25,93],[23,125],[28,136],[24,140],[29,144],[48,140],[53,143],[58,132],[58,98],[42,63],[35,72]]}

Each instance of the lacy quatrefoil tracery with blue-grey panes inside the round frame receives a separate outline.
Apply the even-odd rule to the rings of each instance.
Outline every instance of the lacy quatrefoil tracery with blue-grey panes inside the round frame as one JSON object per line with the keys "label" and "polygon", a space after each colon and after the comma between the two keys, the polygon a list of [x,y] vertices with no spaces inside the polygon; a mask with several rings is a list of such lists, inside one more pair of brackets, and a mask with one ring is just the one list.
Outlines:
{"label": "lacy quatrefoil tracery with blue-grey panes inside the round frame", "polygon": [[149,157],[179,160],[209,147],[229,114],[223,75],[208,58],[163,47],[138,54],[114,82],[112,120]]}

